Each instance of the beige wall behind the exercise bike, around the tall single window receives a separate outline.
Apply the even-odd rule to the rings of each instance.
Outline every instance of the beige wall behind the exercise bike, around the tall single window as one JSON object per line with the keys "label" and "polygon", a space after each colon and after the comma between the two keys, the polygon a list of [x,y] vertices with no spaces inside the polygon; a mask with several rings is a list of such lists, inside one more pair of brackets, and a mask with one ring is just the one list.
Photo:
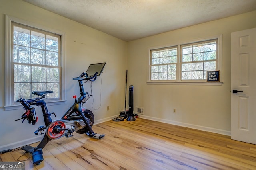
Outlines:
{"label": "beige wall behind the exercise bike, around the tall single window", "polygon": [[[65,62],[66,62],[66,104],[49,106],[50,112],[55,112],[57,118],[61,117],[72,105],[72,96],[80,95],[78,82],[72,80],[86,72],[89,64],[106,62],[102,76],[92,83],[94,103],[90,98],[87,109],[93,111],[96,123],[110,120],[120,113],[124,106],[124,87],[127,65],[127,42],[58,16],[21,0],[0,1],[0,151],[18,147],[20,144],[28,144],[35,139],[34,131],[40,125],[44,125],[40,107],[36,108],[38,122],[36,125],[28,124],[27,121],[14,121],[24,113],[22,107],[19,110],[5,111],[4,99],[4,50],[5,50],[5,14],[42,25],[50,29],[60,30],[66,33]],[[100,84],[102,78],[102,92]],[[86,83],[90,94],[90,83]],[[100,102],[101,97],[101,102]],[[120,100],[122,99],[122,100]],[[110,110],[107,111],[107,106]],[[53,120],[57,119],[54,116]],[[100,133],[100,132],[98,132]]]}

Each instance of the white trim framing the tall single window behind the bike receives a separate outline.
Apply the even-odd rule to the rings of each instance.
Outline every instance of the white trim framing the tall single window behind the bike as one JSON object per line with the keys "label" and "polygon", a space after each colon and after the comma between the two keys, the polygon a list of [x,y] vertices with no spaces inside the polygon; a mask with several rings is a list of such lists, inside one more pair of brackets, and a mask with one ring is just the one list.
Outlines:
{"label": "white trim framing the tall single window behind the bike", "polygon": [[13,17],[13,16],[5,16],[5,110],[14,110],[14,109],[22,109],[21,105],[14,105],[11,101],[11,43],[12,43],[12,37],[11,37],[11,30],[12,26],[11,23],[16,22],[23,25],[27,25],[30,27],[35,27],[38,29],[42,29],[45,31],[49,31],[52,33],[56,33],[58,35],[61,35],[61,89],[62,92],[60,93],[60,100],[58,101],[49,101],[47,102],[48,106],[55,105],[55,104],[65,104],[66,103],[66,93],[65,93],[65,33],[56,29],[51,29],[42,25],[38,25],[35,23],[32,23],[30,21],[21,20],[19,18]]}

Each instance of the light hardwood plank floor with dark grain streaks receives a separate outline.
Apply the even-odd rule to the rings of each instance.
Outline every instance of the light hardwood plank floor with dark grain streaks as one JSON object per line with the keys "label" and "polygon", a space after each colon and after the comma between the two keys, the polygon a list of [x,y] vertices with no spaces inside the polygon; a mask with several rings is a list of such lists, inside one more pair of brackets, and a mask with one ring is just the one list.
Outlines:
{"label": "light hardwood plank floor with dark grain streaks", "polygon": [[[52,140],[43,149],[44,161],[34,166],[31,156],[26,169],[256,170],[256,145],[225,135],[141,118],[107,121],[93,130],[106,136],[97,140],[74,133]],[[0,161],[16,161],[22,154],[0,154]],[[28,157],[26,153],[21,160]]]}

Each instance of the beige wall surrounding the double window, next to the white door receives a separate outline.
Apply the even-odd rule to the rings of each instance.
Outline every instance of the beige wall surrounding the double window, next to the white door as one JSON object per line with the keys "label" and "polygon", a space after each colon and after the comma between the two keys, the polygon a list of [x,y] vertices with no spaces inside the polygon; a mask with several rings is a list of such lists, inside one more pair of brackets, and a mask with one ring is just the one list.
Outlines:
{"label": "beige wall surrounding the double window, next to the white door", "polygon": [[[230,34],[253,27],[256,27],[256,11],[130,41],[128,80],[134,85],[134,107],[144,108],[140,117],[230,134]],[[149,47],[220,34],[222,86],[146,84]],[[172,113],[174,108],[176,114]]]}

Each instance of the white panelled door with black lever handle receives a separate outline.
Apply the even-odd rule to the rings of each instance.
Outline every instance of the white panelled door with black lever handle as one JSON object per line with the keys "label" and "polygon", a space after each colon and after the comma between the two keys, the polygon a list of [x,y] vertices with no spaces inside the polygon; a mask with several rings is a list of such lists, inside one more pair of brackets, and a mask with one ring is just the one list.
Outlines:
{"label": "white panelled door with black lever handle", "polygon": [[256,144],[256,28],[231,33],[231,139]]}

